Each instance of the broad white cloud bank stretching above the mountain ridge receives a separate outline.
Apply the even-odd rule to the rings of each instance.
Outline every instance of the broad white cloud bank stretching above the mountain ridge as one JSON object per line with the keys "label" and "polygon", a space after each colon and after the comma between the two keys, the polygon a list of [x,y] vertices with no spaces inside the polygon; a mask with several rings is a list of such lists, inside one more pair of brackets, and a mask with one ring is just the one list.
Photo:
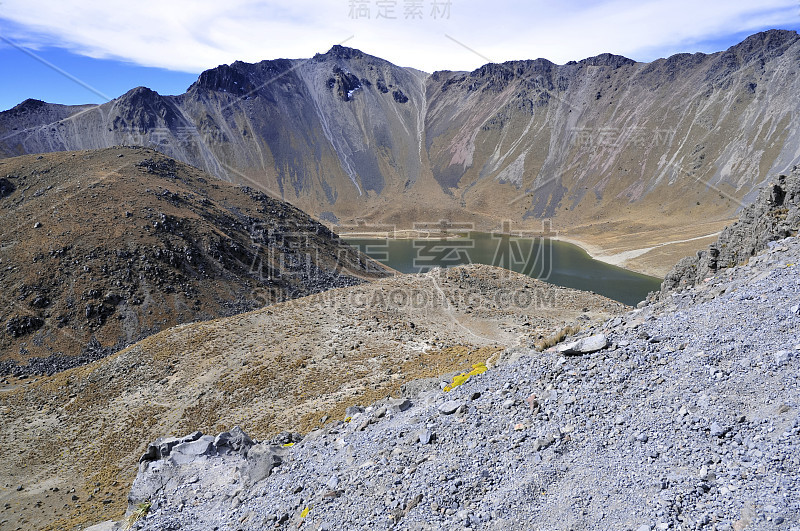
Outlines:
{"label": "broad white cloud bank stretching above the mountain ridge", "polygon": [[351,18],[350,0],[4,0],[0,18],[14,23],[4,34],[26,45],[187,72],[237,59],[310,57],[351,36],[348,46],[433,71],[602,52],[649,60],[726,35],[800,26],[796,0],[451,0],[449,18],[434,19],[435,1],[444,2],[420,1],[422,20],[405,19],[407,0],[386,2],[394,20],[376,19],[378,0],[365,3],[369,19]]}

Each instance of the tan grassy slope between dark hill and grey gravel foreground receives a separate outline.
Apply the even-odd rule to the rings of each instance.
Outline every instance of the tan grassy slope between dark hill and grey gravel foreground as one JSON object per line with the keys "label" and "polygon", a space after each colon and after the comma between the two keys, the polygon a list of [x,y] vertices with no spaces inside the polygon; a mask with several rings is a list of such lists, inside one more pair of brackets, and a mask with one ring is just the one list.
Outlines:
{"label": "tan grassy slope between dark hill and grey gravel foreground", "polygon": [[[148,441],[234,424],[307,432],[626,307],[488,266],[405,275],[184,324],[95,363],[0,386],[0,527],[119,517]],[[438,386],[438,380],[428,380]],[[289,442],[291,437],[284,440]]]}

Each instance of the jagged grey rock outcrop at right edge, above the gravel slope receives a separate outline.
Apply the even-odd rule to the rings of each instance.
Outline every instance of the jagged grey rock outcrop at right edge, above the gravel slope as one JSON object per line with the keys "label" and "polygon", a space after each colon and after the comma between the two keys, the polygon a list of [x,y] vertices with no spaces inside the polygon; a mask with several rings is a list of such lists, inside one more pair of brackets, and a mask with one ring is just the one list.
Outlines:
{"label": "jagged grey rock outcrop at right edge, above the gravel slope", "polygon": [[709,275],[746,263],[770,242],[796,236],[800,230],[800,167],[779,175],[746,207],[739,220],[726,227],[707,251],[684,258],[664,278],[652,298],[694,286]]}

